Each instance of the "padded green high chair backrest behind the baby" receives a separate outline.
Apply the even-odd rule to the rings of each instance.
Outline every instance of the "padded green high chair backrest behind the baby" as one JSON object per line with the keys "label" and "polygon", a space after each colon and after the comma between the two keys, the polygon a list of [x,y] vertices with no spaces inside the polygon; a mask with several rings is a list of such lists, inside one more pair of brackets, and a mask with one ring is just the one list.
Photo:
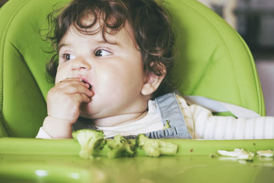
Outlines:
{"label": "padded green high chair backrest behind the baby", "polygon": [[[50,45],[39,30],[55,3],[10,0],[0,10],[0,136],[34,137],[47,116],[45,63]],[[234,103],[264,115],[264,99],[247,45],[195,0],[169,0],[179,55],[179,92]]]}

